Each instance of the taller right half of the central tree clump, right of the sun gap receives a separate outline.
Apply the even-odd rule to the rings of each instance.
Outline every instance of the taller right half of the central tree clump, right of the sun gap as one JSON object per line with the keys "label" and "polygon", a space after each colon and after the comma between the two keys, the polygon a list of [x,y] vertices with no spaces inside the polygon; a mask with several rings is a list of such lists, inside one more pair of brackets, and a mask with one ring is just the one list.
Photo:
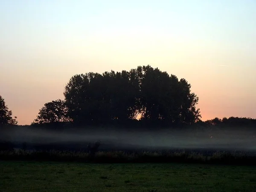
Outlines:
{"label": "taller right half of the central tree clump, right of the sun gap", "polygon": [[185,79],[169,76],[158,68],[138,67],[141,76],[141,119],[164,121],[168,124],[191,124],[201,115],[196,109],[198,97],[191,93],[191,85]]}

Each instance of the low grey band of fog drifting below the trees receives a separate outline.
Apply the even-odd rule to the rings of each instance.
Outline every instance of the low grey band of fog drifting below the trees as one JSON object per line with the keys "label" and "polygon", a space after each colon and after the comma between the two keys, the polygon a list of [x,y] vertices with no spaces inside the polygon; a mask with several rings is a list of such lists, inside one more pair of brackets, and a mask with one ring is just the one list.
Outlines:
{"label": "low grey band of fog drifting below the trees", "polygon": [[255,150],[256,131],[230,128],[117,130],[112,128],[67,128],[51,131],[31,127],[16,127],[1,131],[0,141],[47,145],[55,143],[86,143],[100,141],[99,150],[124,149],[215,149]]}

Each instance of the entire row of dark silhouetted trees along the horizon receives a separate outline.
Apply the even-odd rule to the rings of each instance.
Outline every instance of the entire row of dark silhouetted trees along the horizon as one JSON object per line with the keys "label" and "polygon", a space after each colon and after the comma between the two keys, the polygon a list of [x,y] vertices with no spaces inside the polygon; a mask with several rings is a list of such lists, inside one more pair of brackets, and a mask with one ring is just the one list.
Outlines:
{"label": "entire row of dark silhouetted trees along the horizon", "polygon": [[[198,96],[185,79],[151,66],[122,72],[73,76],[64,100],[44,104],[32,125],[179,127],[184,125],[255,126],[255,119],[230,117],[201,121]],[[0,124],[17,125],[0,97]]]}

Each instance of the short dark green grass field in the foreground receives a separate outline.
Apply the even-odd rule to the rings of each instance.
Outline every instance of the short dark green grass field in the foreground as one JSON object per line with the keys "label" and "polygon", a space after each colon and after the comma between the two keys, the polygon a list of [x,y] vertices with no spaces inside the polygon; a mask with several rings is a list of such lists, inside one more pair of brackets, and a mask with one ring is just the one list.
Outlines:
{"label": "short dark green grass field in the foreground", "polygon": [[255,166],[0,161],[0,192],[253,192]]}

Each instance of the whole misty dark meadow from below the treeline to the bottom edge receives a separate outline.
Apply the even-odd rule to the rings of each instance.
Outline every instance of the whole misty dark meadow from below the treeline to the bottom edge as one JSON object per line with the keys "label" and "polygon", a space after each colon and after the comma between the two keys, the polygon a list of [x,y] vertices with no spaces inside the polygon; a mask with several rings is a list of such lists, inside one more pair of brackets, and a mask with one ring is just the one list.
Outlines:
{"label": "whole misty dark meadow from below the treeline to the bottom edge", "polygon": [[[256,191],[254,132],[8,131],[0,192]],[[90,154],[87,145],[98,138]]]}

